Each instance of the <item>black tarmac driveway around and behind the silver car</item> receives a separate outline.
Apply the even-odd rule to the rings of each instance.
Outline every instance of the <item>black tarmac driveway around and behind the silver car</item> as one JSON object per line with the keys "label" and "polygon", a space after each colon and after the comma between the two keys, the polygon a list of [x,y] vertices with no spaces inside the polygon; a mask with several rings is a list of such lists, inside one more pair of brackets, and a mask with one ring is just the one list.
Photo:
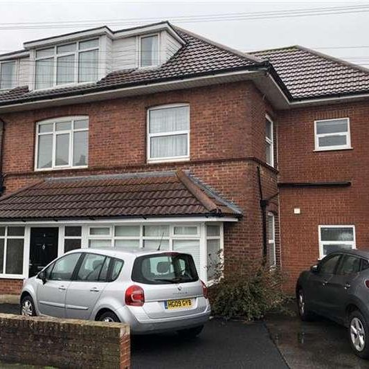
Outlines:
{"label": "black tarmac driveway around and behind the silver car", "polygon": [[[17,305],[0,312],[18,314]],[[264,323],[213,319],[197,339],[175,334],[132,337],[132,368],[288,369]]]}

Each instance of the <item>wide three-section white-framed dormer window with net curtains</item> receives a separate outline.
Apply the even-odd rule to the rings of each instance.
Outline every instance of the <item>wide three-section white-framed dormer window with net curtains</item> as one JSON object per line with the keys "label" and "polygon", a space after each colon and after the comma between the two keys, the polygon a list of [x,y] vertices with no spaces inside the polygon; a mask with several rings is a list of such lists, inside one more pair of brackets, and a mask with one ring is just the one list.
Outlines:
{"label": "wide three-section white-framed dormer window with net curtains", "polygon": [[98,80],[98,51],[98,39],[37,50],[35,89]]}

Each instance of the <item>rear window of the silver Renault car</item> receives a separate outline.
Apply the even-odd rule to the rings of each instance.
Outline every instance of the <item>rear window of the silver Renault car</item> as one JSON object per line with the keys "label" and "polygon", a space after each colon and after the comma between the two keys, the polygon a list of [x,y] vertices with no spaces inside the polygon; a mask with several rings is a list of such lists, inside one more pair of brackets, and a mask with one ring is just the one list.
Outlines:
{"label": "rear window of the silver Renault car", "polygon": [[195,262],[186,253],[139,256],[134,261],[132,280],[147,285],[195,282],[199,280]]}

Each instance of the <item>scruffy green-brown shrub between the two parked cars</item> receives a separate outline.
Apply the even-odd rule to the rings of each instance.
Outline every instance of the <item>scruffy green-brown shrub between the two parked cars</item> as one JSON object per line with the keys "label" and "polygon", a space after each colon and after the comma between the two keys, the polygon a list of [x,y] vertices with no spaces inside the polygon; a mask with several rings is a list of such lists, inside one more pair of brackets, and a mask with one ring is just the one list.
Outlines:
{"label": "scruffy green-brown shrub between the two parked cars", "polygon": [[224,276],[217,271],[215,280],[209,287],[215,316],[260,319],[269,310],[280,307],[286,298],[281,289],[282,275],[269,267],[240,262],[237,270],[228,270]]}

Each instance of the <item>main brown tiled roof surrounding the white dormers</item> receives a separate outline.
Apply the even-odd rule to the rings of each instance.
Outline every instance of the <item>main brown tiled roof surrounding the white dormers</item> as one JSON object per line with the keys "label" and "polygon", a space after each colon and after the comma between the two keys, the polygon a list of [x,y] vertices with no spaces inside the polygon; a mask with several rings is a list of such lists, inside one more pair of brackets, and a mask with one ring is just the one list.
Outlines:
{"label": "main brown tiled roof surrounding the white dormers", "polygon": [[177,28],[176,30],[186,44],[168,62],[158,68],[114,71],[96,83],[75,87],[40,91],[28,91],[28,87],[21,87],[6,93],[0,93],[0,105],[71,96],[163,80],[184,79],[230,69],[249,69],[260,64],[260,61],[253,56],[228,51],[226,48],[217,46],[217,44],[208,42],[206,39],[197,37],[192,33]]}

